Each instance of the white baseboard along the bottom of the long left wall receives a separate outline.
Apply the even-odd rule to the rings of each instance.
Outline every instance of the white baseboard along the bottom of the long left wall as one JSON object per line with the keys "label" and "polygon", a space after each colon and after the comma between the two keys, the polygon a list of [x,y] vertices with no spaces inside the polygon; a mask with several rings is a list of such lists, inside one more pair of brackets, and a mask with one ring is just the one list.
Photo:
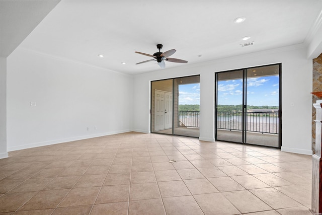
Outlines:
{"label": "white baseboard along the bottom of the long left wall", "polygon": [[[106,132],[106,133],[97,133],[97,134],[91,134],[91,135],[85,135],[85,136],[76,136],[76,137],[70,137],[65,139],[56,139],[56,140],[50,140],[50,141],[44,141],[44,142],[36,142],[33,144],[26,144],[26,145],[20,145],[16,147],[9,147],[7,146],[8,152],[17,151],[17,150],[24,150],[29,148],[35,148],[35,147],[43,147],[53,144],[61,144],[62,142],[70,142],[70,141],[76,141],[76,140],[82,140],[82,139],[89,139],[89,138],[95,138],[100,136],[107,136],[112,134],[118,134],[118,133],[126,133],[131,132],[132,129],[129,130],[119,130],[119,131],[112,131],[112,132]],[[8,144],[8,143],[7,143]]]}

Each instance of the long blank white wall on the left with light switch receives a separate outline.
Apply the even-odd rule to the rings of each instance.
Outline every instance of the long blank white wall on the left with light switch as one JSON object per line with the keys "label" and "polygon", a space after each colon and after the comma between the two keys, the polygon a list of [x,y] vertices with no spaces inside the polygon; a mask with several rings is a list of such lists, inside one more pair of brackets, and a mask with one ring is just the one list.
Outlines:
{"label": "long blank white wall on the left with light switch", "polygon": [[7,71],[8,151],[132,130],[132,76],[21,48]]}

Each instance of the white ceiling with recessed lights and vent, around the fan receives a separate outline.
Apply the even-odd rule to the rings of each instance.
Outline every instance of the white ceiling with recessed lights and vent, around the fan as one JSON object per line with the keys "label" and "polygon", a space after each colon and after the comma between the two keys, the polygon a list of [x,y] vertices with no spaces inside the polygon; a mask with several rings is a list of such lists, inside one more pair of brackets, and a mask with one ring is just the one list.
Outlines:
{"label": "white ceiling with recessed lights and vent, around the fan", "polygon": [[[29,1],[18,2],[33,13]],[[151,58],[134,51],[153,54],[158,43],[193,64],[307,42],[321,10],[320,0],[61,0],[20,47],[139,74],[160,68],[155,61],[135,65]],[[241,16],[245,22],[235,24]]]}

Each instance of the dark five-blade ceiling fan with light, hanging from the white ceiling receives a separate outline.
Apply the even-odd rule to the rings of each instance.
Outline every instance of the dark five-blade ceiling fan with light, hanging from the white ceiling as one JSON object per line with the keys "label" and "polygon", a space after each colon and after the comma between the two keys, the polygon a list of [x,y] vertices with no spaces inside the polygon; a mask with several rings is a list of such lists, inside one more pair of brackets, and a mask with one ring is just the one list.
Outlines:
{"label": "dark five-blade ceiling fan with light, hanging from the white ceiling", "polygon": [[188,62],[187,60],[181,60],[181,59],[177,59],[177,58],[170,58],[169,56],[173,55],[177,50],[176,49],[171,49],[171,50],[166,51],[166,52],[160,52],[160,49],[162,49],[162,47],[163,47],[162,44],[157,44],[156,48],[159,50],[159,52],[155,52],[153,55],[135,51],[135,53],[143,54],[143,55],[146,55],[146,56],[154,58],[154,59],[145,60],[145,61],[135,63],[135,64],[141,64],[141,63],[146,63],[146,62],[149,62],[149,61],[152,61],[152,60],[156,60],[161,68],[165,68],[166,67],[165,60],[170,61],[170,62],[175,62],[175,63],[187,63]]}

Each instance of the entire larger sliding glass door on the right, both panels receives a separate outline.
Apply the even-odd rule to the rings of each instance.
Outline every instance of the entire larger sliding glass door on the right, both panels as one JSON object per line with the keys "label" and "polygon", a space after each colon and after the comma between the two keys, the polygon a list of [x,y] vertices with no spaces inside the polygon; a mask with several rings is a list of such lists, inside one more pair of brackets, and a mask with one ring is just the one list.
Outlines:
{"label": "entire larger sliding glass door on the right, both panels", "polygon": [[281,64],[216,73],[216,140],[281,147]]}

